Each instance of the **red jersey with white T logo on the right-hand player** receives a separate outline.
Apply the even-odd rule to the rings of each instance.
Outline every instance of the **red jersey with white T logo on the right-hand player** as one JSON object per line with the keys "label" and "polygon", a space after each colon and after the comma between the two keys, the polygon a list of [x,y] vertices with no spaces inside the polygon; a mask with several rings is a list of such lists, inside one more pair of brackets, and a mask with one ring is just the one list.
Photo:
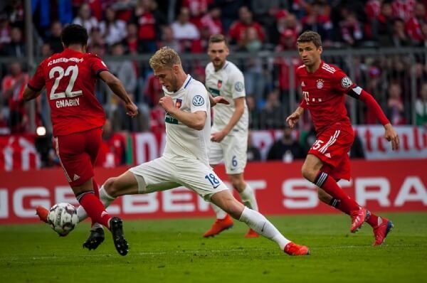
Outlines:
{"label": "red jersey with white T logo on the right-hand player", "polygon": [[344,95],[356,85],[337,66],[322,61],[315,73],[308,73],[305,65],[297,68],[302,88],[301,107],[310,110],[317,134],[329,127],[353,132],[347,116]]}

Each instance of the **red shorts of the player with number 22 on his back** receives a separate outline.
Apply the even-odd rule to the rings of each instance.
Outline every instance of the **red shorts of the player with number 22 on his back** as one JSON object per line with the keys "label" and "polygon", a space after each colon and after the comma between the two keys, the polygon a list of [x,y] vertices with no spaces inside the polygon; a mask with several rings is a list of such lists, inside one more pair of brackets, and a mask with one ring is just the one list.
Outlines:
{"label": "red shorts of the player with number 22 on his back", "polygon": [[55,142],[56,154],[71,187],[93,177],[93,164],[102,142],[101,128],[58,136]]}

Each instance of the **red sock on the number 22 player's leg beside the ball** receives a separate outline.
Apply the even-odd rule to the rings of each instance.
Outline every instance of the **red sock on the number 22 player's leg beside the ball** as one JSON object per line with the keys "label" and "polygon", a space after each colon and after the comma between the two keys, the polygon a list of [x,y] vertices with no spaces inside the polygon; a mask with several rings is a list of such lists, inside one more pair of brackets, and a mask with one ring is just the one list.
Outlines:
{"label": "red sock on the number 22 player's leg beside the ball", "polygon": [[93,191],[87,191],[80,193],[76,196],[80,205],[85,208],[86,213],[92,218],[93,222],[100,223],[107,228],[110,228],[108,221],[110,220],[110,214],[105,211],[104,205],[102,205],[99,198],[95,196]]}

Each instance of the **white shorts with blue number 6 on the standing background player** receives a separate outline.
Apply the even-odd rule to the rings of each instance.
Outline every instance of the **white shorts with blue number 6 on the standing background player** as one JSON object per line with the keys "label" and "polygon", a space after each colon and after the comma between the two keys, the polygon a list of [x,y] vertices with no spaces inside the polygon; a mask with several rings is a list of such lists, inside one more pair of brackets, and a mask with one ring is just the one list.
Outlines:
{"label": "white shorts with blue number 6 on the standing background player", "polygon": [[248,134],[227,135],[221,142],[211,142],[209,164],[216,165],[224,161],[228,175],[240,174],[245,171]]}

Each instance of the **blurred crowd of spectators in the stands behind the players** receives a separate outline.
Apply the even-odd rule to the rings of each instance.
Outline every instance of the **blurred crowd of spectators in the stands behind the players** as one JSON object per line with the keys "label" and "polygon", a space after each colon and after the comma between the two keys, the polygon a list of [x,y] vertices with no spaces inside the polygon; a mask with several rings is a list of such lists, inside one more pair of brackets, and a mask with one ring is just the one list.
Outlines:
{"label": "blurred crowd of spectators in the stands behind the players", "polygon": [[[162,87],[147,61],[132,60],[132,55],[149,55],[161,46],[170,46],[183,58],[191,58],[191,54],[206,53],[209,36],[223,33],[228,37],[232,54],[243,54],[235,63],[245,75],[251,129],[283,129],[285,117],[295,107],[291,102],[300,101],[297,91],[292,92],[297,87],[296,82],[290,82],[290,71],[301,62],[296,52],[289,57],[277,54],[295,51],[296,38],[302,31],[320,33],[326,50],[426,48],[426,8],[427,0],[31,1],[36,58],[43,59],[63,49],[60,43],[63,26],[68,23],[85,26],[90,34],[88,51],[105,58],[110,71],[122,80],[141,113],[138,119],[129,119],[120,101],[99,83],[96,95],[111,120],[112,131],[154,133],[164,131],[164,112],[157,105]],[[22,0],[2,1],[0,56],[22,60],[0,68],[0,134],[28,132],[28,107],[33,107],[36,113],[36,126],[43,125],[48,132],[51,129],[45,95],[35,105],[22,101],[23,87],[33,72],[24,63],[27,55],[24,18]],[[186,57],[186,53],[190,55]],[[268,55],[263,57],[262,53]],[[184,69],[204,81],[206,60],[185,60]],[[334,56],[325,60],[339,65],[371,92],[393,124],[427,127],[425,54],[416,55],[413,60],[405,55],[357,56],[351,62]],[[349,102],[354,122],[376,123],[363,105],[354,108],[350,105]],[[310,124],[304,125],[304,129],[310,130]]]}

